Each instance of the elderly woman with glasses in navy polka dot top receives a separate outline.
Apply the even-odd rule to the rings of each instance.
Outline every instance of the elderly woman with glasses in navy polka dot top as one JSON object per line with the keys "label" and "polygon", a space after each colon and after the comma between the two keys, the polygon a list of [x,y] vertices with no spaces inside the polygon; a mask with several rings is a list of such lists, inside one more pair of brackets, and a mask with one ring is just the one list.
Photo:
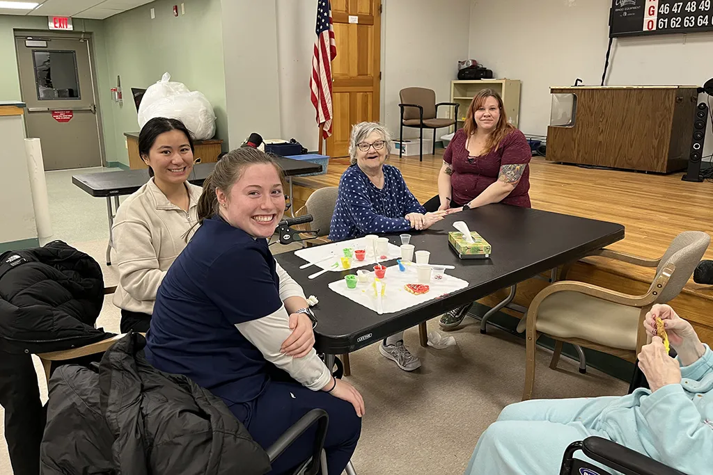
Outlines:
{"label": "elderly woman with glasses in navy polka dot top", "polygon": [[[352,127],[349,139],[352,166],[339,179],[337,205],[329,226],[332,241],[428,229],[447,213],[426,213],[409,191],[399,169],[384,165],[391,147],[386,127],[376,122],[361,122]],[[404,346],[403,332],[386,338],[379,351],[402,370],[413,371],[421,366],[419,359]]]}

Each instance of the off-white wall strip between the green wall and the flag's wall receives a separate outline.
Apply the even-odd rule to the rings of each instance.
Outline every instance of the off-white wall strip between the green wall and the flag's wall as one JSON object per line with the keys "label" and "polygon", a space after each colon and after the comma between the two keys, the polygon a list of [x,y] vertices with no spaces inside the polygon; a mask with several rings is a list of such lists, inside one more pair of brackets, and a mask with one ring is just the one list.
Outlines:
{"label": "off-white wall strip between the green wall and the flag's wall", "polygon": [[276,1],[220,3],[230,147],[240,147],[250,132],[281,137]]}

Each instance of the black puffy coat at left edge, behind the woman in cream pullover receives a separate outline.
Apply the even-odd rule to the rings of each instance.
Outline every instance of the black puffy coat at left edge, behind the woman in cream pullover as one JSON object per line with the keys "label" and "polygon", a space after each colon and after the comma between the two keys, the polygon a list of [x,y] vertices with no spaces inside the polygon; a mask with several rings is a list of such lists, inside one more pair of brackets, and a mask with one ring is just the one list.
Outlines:
{"label": "black puffy coat at left edge, behind the woman in cream pullover", "polygon": [[0,254],[0,350],[46,353],[111,336],[94,323],[104,302],[99,264],[62,241]]}

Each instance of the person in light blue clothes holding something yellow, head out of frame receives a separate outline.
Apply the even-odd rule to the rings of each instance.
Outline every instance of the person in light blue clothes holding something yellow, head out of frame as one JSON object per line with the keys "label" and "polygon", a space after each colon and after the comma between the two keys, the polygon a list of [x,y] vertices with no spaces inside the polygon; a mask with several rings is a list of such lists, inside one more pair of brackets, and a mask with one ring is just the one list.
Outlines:
{"label": "person in light blue clothes holding something yellow, head out of frame", "polygon": [[[656,335],[661,318],[670,357]],[[466,475],[553,475],[565,449],[590,436],[622,444],[688,475],[713,473],[713,352],[667,305],[647,313],[639,367],[651,390],[622,397],[511,404],[478,439]]]}

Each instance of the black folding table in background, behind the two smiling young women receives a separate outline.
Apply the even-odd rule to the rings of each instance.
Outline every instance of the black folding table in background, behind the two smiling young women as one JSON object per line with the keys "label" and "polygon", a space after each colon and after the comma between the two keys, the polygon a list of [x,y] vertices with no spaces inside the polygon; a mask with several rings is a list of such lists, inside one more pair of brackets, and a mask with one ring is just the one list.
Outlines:
{"label": "black folding table in background, behind the two smiling young women", "polygon": [[[291,158],[277,157],[277,162],[284,169],[289,183],[289,197],[292,199],[292,177],[300,174],[318,173],[322,165]],[[190,183],[202,186],[215,163],[198,163],[188,178]],[[132,194],[148,181],[146,169],[121,170],[118,172],[98,172],[72,175],[72,183],[93,197],[106,198],[106,211],[109,219],[109,244],[106,246],[106,265],[111,266],[111,226],[113,226],[116,209],[119,208],[119,197]],[[111,200],[114,200],[113,205]],[[292,211],[294,213],[294,210]]]}

